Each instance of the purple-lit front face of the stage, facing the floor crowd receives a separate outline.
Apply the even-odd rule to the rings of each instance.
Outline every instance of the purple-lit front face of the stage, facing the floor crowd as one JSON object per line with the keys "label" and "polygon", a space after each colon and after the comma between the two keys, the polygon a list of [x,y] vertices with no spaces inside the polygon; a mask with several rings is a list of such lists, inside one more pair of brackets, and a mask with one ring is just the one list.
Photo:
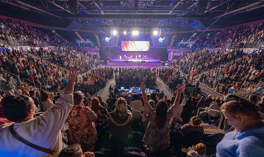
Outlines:
{"label": "purple-lit front face of the stage, facing the floor crowd", "polygon": [[161,67],[161,62],[107,62],[107,66],[126,66],[126,67]]}

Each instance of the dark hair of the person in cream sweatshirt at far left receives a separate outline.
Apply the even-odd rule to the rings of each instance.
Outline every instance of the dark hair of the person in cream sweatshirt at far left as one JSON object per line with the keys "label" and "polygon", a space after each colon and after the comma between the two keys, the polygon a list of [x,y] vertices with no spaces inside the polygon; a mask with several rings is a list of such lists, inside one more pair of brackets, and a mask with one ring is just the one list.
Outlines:
{"label": "dark hair of the person in cream sweatshirt at far left", "polygon": [[24,120],[30,110],[33,110],[32,100],[26,95],[7,96],[1,101],[4,115],[9,121],[19,122]]}

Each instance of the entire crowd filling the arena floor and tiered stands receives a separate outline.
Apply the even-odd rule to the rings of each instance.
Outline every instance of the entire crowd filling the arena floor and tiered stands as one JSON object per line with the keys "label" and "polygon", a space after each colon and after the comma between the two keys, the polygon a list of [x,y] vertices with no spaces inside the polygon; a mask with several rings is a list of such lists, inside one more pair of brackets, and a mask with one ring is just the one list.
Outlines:
{"label": "entire crowd filling the arena floor and tiered stands", "polygon": [[[5,25],[1,34],[4,39],[6,36],[19,38],[16,31],[20,32],[21,27],[21,39],[47,40],[43,32],[19,21],[2,20],[2,23]],[[29,32],[33,36],[24,33],[29,30],[34,31]],[[262,23],[222,32],[226,36],[220,35],[220,41],[212,39],[213,42],[263,40]],[[234,32],[236,34],[230,36]],[[236,40],[241,35],[243,39]],[[50,38],[57,42],[63,40],[54,36],[48,40]],[[199,41],[199,37],[197,39]],[[211,38],[207,40],[211,42]],[[200,42],[204,44],[202,40]],[[199,88],[199,82],[215,90],[218,87],[220,93],[233,90],[233,86],[236,90],[245,81],[257,83],[264,75],[262,49],[225,67],[218,66],[217,70],[201,75],[200,81],[194,82],[195,75],[202,70],[235,59],[242,52],[243,49],[200,49],[172,61],[173,68],[114,69],[98,68],[100,60],[73,48],[41,48],[36,52],[40,60],[21,51],[0,51],[0,81],[12,88],[0,97],[0,124],[3,124],[0,126],[0,156],[92,157],[98,151],[107,156],[122,156],[128,152],[145,157],[259,156],[264,153],[264,96],[259,101],[254,94],[245,99],[236,95],[220,98],[187,92],[188,88]],[[60,66],[56,68],[45,60]],[[69,68],[69,72],[64,68]],[[176,68],[187,76],[180,76]],[[37,88],[45,88],[36,90],[21,85],[17,89],[22,78],[34,82]],[[132,96],[121,92],[114,94],[111,86],[105,101],[98,93],[92,96],[88,91],[78,90],[79,86],[91,85],[102,89],[112,78],[116,82],[137,82],[142,90],[141,98],[137,93]],[[172,95],[163,92],[146,94],[146,84],[156,83],[159,78],[173,90]],[[59,92],[60,86],[66,87],[63,92]],[[58,92],[50,92],[54,89]],[[201,107],[205,109],[200,110]],[[35,115],[41,111],[44,113]],[[69,130],[67,140],[62,140],[61,128],[66,120]],[[210,126],[220,123],[220,129],[227,133],[205,134],[202,121]],[[63,147],[63,142],[69,146]]]}

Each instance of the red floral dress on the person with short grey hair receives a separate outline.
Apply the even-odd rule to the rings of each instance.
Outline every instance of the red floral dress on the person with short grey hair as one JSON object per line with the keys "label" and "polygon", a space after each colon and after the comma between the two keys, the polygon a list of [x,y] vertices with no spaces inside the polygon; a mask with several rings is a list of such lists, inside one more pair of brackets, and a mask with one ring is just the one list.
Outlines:
{"label": "red floral dress on the person with short grey hair", "polygon": [[97,140],[96,119],[97,115],[91,108],[74,106],[67,117],[70,143],[80,143],[83,150],[92,147]]}

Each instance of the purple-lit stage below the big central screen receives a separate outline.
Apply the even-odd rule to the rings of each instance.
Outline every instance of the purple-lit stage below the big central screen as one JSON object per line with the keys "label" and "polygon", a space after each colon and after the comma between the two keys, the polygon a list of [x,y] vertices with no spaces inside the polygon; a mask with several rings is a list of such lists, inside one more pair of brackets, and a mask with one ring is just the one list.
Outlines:
{"label": "purple-lit stage below the big central screen", "polygon": [[131,67],[161,67],[162,62],[158,59],[118,59],[107,61],[107,66],[131,66]]}

